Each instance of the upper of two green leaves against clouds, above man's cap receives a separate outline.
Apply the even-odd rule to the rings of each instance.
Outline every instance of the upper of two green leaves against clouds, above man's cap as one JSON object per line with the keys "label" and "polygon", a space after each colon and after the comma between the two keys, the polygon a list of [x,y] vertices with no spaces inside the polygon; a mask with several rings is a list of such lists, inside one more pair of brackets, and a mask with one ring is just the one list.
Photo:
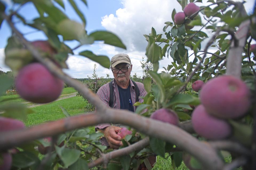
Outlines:
{"label": "upper of two green leaves against clouds, above man's cap", "polygon": [[122,41],[113,33],[108,31],[96,31],[89,35],[93,37],[95,41],[104,41],[105,44],[117,46],[123,49],[126,49],[125,45]]}

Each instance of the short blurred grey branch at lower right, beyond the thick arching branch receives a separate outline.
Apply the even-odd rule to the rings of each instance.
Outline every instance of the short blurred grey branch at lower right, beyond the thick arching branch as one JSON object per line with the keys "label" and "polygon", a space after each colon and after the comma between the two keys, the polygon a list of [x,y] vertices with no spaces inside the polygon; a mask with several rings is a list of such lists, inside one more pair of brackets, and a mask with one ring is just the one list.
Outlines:
{"label": "short blurred grey branch at lower right, beyond the thick arching branch", "polygon": [[251,156],[252,152],[241,145],[238,142],[234,141],[209,141],[210,145],[216,149],[227,150],[232,152],[237,152],[242,155]]}

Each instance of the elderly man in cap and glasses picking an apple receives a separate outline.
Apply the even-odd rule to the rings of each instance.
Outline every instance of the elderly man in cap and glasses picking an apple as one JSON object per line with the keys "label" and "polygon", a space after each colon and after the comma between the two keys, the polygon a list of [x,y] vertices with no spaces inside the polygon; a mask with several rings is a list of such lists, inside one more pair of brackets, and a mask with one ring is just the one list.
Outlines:
{"label": "elderly man in cap and glasses picking an apple", "polygon": [[[143,102],[140,96],[146,96],[147,92],[142,83],[133,82],[130,79],[132,68],[133,65],[127,54],[121,53],[111,58],[110,69],[113,72],[114,79],[110,82],[111,84],[107,83],[101,86],[97,92],[97,95],[107,106],[134,112],[136,107],[133,104],[136,101]],[[95,126],[96,130],[104,133],[105,138],[101,140],[102,145],[116,149],[122,146],[121,137],[116,133],[121,129],[119,126],[120,124],[116,124],[115,126],[111,126],[110,124]]]}

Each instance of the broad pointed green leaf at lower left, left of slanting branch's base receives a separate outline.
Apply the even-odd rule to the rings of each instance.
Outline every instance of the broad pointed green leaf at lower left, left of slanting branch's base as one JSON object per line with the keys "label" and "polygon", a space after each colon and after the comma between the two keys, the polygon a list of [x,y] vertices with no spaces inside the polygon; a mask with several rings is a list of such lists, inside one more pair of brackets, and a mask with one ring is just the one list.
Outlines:
{"label": "broad pointed green leaf at lower left, left of slanting branch's base", "polygon": [[81,151],[77,149],[70,149],[65,147],[55,146],[55,150],[59,155],[59,158],[64,163],[64,168],[69,167],[79,159]]}

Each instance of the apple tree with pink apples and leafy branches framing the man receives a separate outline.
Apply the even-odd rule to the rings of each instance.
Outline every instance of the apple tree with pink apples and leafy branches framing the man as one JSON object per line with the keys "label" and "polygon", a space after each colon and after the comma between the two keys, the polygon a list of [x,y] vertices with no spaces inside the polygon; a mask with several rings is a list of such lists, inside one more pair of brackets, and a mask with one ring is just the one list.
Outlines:
{"label": "apple tree with pink apples and leafy branches framing the man", "polygon": [[[17,73],[20,96],[51,102],[61,93],[54,89],[61,89],[65,82],[97,109],[70,116],[61,107],[65,119],[25,127],[22,121],[31,110],[1,101],[0,169],[128,170],[151,155],[166,154],[174,168],[183,160],[189,169],[256,169],[256,51],[251,44],[256,22],[255,13],[247,15],[243,3],[209,0],[209,5],[199,6],[201,0],[178,0],[182,11],[173,10],[173,22],[165,22],[165,34],[157,34],[152,27],[144,35],[146,62],[153,68],[143,80],[148,94],[131,113],[106,107],[87,86],[62,71],[68,55],[82,45],[103,41],[126,49],[114,33],[88,34],[85,16],[73,0],[69,3],[82,23],[69,19],[62,0],[12,2],[12,8],[0,2],[0,24],[5,20],[12,30],[5,63]],[[33,21],[19,12],[26,3],[32,3],[39,14]],[[43,32],[48,40],[28,41],[17,22]],[[65,44],[70,40],[79,45],[71,49]],[[88,50],[79,55],[110,68],[107,56]],[[173,62],[159,73],[163,57]],[[2,94],[13,82],[8,76],[0,78]],[[123,142],[118,150],[100,145],[103,134],[89,131],[88,126],[106,122],[130,127],[117,132]],[[44,155],[40,159],[39,153]],[[224,161],[225,153],[231,155],[230,163]]]}

